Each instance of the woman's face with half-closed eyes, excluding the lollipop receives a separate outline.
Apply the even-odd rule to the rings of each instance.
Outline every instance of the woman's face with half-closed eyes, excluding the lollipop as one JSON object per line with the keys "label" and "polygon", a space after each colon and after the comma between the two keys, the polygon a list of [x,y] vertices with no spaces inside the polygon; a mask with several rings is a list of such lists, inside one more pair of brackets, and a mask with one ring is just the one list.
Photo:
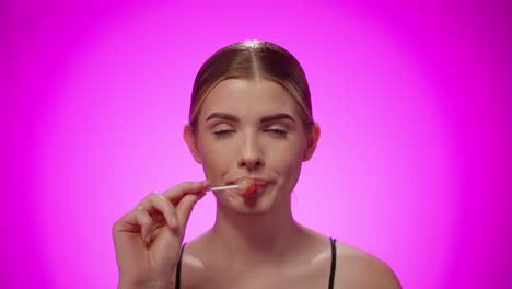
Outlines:
{"label": "woman's face with half-closed eyes, excluding the lollipop", "polygon": [[247,196],[235,189],[216,193],[220,206],[258,213],[289,201],[317,140],[314,132],[306,135],[300,115],[292,96],[272,81],[229,79],[210,92],[196,134],[185,130],[195,159],[212,186],[256,180],[255,193]]}

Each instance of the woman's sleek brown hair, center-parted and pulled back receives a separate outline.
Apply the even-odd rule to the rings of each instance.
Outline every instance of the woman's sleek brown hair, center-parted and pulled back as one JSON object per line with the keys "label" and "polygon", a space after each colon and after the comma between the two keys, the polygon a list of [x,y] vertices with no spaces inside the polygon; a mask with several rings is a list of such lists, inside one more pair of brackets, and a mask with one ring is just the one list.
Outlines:
{"label": "woman's sleek brown hair, center-parted and pulled back", "polygon": [[310,86],[295,57],[269,42],[243,41],[221,48],[199,69],[190,100],[189,123],[193,128],[197,126],[206,96],[221,81],[232,78],[261,78],[275,81],[284,88],[302,108],[307,130],[314,123]]}

